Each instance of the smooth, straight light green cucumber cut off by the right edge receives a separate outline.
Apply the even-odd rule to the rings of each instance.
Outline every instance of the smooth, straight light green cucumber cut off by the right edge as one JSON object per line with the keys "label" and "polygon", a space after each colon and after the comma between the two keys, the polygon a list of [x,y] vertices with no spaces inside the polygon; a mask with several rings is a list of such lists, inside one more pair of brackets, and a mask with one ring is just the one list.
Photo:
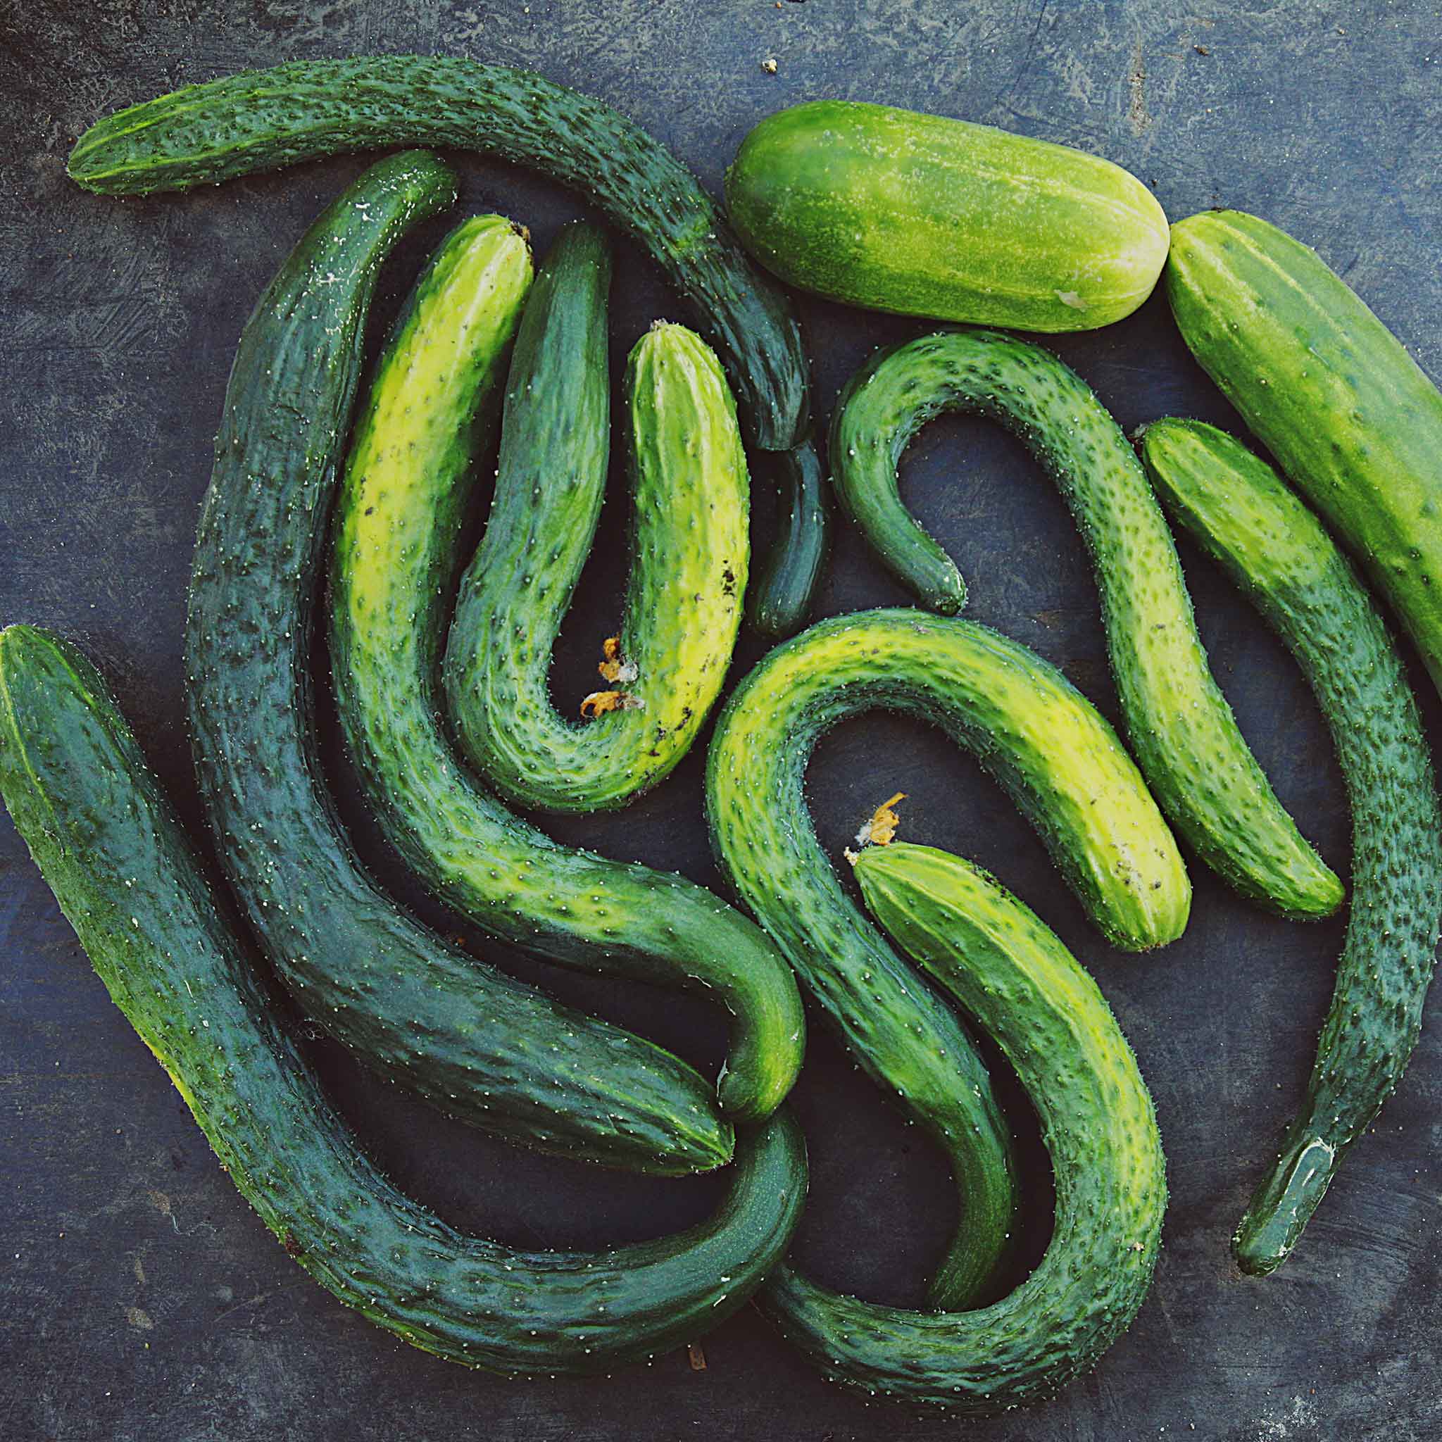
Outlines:
{"label": "smooth, straight light green cucumber cut off by the right edge", "polygon": [[1255,215],[1181,221],[1165,286],[1191,353],[1442,691],[1442,392],[1315,251]]}

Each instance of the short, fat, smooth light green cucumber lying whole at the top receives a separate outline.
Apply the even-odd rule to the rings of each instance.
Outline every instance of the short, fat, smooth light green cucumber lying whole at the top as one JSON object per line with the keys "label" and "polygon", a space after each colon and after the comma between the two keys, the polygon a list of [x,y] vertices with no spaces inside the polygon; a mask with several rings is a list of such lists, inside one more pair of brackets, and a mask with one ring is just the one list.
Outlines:
{"label": "short, fat, smooth light green cucumber lying whole at the top", "polygon": [[725,198],[782,280],[907,316],[1092,330],[1136,310],[1167,261],[1162,208],[1109,160],[890,105],[767,115]]}

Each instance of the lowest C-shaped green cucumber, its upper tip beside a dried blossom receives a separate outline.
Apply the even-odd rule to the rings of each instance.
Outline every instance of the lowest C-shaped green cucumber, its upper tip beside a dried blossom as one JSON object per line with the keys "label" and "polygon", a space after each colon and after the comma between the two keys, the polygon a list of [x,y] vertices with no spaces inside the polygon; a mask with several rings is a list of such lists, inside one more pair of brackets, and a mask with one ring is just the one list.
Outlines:
{"label": "lowest C-shaped green cucumber, its upper tip beside a dried blossom", "polygon": [[761,1311],[833,1381],[963,1415],[1038,1402],[1094,1366],[1146,1296],[1167,1172],[1156,1115],[1096,982],[986,872],[927,846],[868,846],[871,914],[1027,1087],[1056,1175],[1047,1253],[1002,1301],[913,1312],[838,1296],[790,1269]]}

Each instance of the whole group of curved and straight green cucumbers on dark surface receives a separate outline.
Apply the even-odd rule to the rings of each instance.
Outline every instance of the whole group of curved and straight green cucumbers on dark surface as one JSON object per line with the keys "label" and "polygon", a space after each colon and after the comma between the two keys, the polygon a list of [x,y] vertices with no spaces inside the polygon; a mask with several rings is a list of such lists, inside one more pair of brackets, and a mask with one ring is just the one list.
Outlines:
{"label": "whole group of curved and straight green cucumbers on dark surface", "polygon": [[[554,695],[549,666],[611,454],[610,242],[575,224],[536,267],[509,219],[461,221],[360,398],[378,270],[454,200],[451,170],[424,150],[379,160],[313,224],[236,350],[186,630],[226,894],[95,668],[62,637],[0,632],[0,795],[241,1193],[343,1302],[497,1373],[606,1371],[692,1343],[753,1298],[828,1377],[874,1396],[986,1415],[1094,1366],[1161,1244],[1165,1161],[1136,1058],[1087,972],[995,878],[893,844],[885,810],[838,868],[803,780],[828,727],[913,711],[1001,782],[1116,946],[1181,934],[1182,846],[1282,916],[1334,913],[1347,888],[1211,676],[1169,519],[1298,658],[1353,808],[1331,1012],[1233,1242],[1243,1270],[1279,1266],[1397,1086],[1433,970],[1442,809],[1366,581],[1442,686],[1442,394],[1265,221],[1168,226],[1107,162],[880,105],[761,121],[727,173],[727,212],[601,102],[437,56],[190,87],[92,127],[69,172],[146,193],[414,144],[483,150],[581,190],[691,306],[696,329],[658,322],[626,368],[633,554],[603,686]],[[1187,345],[1285,482],[1195,421],[1155,421],[1133,446],[1080,376],[1008,333],[1107,324],[1161,277]],[[826,464],[782,283],[952,323],[852,378]],[[1061,489],[1093,561],[1123,734],[1056,668],[957,614],[965,583],[897,482],[911,437],[949,410],[1014,431]],[[753,574],[758,461],[782,521]],[[917,607],[805,626],[832,490]],[[395,851],[489,936],[720,1002],[718,1077],[463,953],[378,887],[317,758],[322,597],[342,730]],[[754,920],[684,877],[564,846],[513,809],[619,808],[663,782],[722,701],[744,619],[783,643],[724,702],[705,808]],[[836,1295],[787,1262],[806,1194],[784,1106],[802,991],[952,1164],[960,1226],[924,1309]],[[461,1234],[366,1158],[291,1037],[291,1007],[391,1083],[518,1145],[658,1175],[728,1167],[730,1187],[699,1226],[607,1252]],[[1019,1286],[1007,1279],[1022,1180],[976,1031],[1027,1090],[1053,1164],[1051,1240]]]}

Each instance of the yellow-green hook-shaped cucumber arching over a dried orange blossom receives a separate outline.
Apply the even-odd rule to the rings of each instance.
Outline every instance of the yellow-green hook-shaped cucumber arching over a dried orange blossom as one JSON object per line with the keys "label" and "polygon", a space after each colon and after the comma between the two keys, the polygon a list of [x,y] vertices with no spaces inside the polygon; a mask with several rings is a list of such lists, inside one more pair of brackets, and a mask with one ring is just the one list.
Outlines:
{"label": "yellow-green hook-shaped cucumber arching over a dried orange blossom", "polygon": [[1180,936],[1191,887],[1112,728],[1060,672],[985,627],[914,610],[833,617],[766,656],[727,704],[707,764],[717,858],[857,1061],[952,1161],[962,1229],[932,1296],[962,1306],[1008,1246],[1005,1122],[960,1022],[841,890],[802,790],[818,737],[877,707],[975,751],[1118,945]]}

